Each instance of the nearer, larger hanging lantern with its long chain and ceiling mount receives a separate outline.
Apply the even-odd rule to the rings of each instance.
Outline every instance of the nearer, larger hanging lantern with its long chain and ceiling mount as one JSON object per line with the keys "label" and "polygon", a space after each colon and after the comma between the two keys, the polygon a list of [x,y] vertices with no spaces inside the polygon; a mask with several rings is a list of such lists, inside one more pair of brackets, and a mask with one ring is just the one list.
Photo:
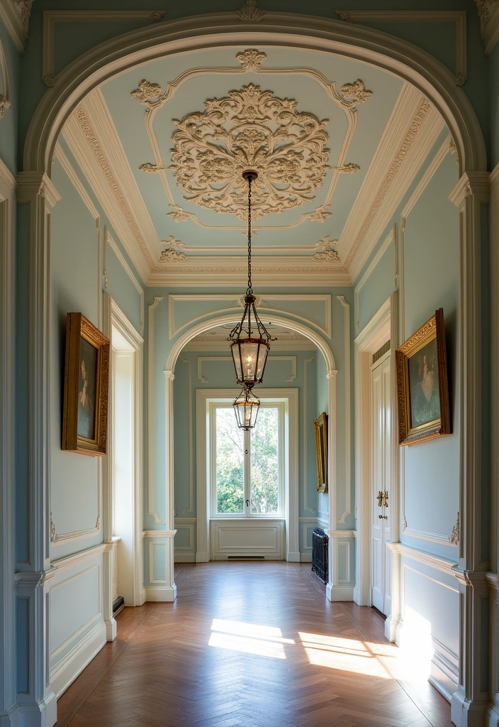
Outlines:
{"label": "nearer, larger hanging lantern with its long chain and ceiling mount", "polygon": [[249,169],[242,176],[248,182],[248,287],[244,296],[242,319],[231,330],[228,340],[232,341],[231,353],[237,382],[251,389],[255,384],[263,382],[263,371],[271,348],[269,342],[275,339],[257,316],[256,297],[251,283],[251,184],[258,174]]}

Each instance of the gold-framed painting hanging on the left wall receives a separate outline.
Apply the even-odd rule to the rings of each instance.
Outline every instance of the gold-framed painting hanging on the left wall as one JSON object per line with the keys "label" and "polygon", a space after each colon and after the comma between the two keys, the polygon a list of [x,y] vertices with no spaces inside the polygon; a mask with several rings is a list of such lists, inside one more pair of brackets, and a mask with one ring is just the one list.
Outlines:
{"label": "gold-framed painting hanging on the left wall", "polygon": [[62,449],[104,456],[110,341],[82,313],[67,313]]}

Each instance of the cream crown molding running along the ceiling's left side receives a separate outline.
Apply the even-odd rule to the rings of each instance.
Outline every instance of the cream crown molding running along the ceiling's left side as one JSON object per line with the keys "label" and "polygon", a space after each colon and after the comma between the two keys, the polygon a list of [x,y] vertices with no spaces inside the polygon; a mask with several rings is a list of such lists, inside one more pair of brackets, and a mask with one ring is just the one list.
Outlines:
{"label": "cream crown molding running along the ceiling's left side", "polygon": [[[94,140],[92,129],[86,127],[86,131]],[[138,230],[138,225],[133,219],[128,205],[122,206],[120,202],[123,196],[117,182],[112,174],[110,167],[107,165],[107,159],[99,158],[96,149],[92,153],[91,147],[87,141],[86,131],[75,118],[73,113],[66,121],[62,129],[62,137],[64,138],[70,152],[73,154],[75,161],[80,167],[83,175],[86,177],[88,184],[94,190],[99,203],[109,218],[112,227],[117,233],[120,242],[123,244],[128,256],[133,262],[139,276],[143,282],[147,281],[150,266],[141,252],[141,246],[138,244],[136,234],[139,234],[139,240],[144,241]],[[96,142],[99,145],[99,142]],[[99,148],[100,149],[100,148]],[[104,164],[104,167],[100,161]]]}

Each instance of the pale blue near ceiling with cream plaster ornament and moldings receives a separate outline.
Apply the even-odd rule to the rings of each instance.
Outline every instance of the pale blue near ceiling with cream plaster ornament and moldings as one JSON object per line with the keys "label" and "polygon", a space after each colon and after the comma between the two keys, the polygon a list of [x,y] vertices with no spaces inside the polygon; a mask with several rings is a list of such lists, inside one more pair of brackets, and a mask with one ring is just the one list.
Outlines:
{"label": "pale blue near ceiling with cream plaster ornament and moldings", "polygon": [[165,57],[91,92],[62,132],[144,281],[349,284],[444,128],[371,65],[284,47]]}

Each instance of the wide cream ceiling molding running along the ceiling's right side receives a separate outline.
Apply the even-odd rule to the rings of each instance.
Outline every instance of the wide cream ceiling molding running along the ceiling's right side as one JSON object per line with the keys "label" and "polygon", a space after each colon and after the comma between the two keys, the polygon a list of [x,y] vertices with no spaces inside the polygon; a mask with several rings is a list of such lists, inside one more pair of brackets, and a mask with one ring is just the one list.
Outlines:
{"label": "wide cream ceiling molding running along the ceiling's right side", "polygon": [[339,257],[352,280],[366,265],[444,125],[421,92],[405,84],[339,238]]}

